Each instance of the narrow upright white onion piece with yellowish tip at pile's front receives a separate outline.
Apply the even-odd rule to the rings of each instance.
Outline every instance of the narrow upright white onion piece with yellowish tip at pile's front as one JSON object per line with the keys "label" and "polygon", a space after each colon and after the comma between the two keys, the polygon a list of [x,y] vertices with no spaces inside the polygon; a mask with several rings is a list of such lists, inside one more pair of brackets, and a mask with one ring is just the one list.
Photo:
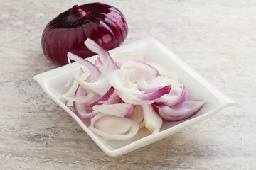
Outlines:
{"label": "narrow upright white onion piece with yellowish tip at pile's front", "polygon": [[154,111],[152,105],[142,105],[143,116],[145,127],[152,133],[160,131],[161,125],[163,123],[162,118],[159,114]]}

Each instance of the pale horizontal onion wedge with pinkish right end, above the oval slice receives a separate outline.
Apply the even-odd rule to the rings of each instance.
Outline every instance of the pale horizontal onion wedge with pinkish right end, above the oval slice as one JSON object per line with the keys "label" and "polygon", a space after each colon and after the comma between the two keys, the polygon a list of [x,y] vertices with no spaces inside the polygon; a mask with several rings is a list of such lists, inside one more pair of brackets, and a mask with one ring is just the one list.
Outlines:
{"label": "pale horizontal onion wedge with pinkish right end, above the oval slice", "polygon": [[135,106],[127,103],[117,103],[108,105],[95,105],[93,110],[105,113],[107,115],[116,115],[118,117],[128,117],[134,112]]}

